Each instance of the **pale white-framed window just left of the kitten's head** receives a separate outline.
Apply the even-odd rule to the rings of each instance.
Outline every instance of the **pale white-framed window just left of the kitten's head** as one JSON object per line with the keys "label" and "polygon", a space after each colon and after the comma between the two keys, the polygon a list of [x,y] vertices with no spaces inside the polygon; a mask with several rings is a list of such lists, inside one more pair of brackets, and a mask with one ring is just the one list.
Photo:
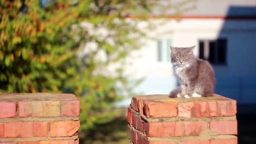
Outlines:
{"label": "pale white-framed window just left of the kitten's head", "polygon": [[171,39],[157,40],[157,61],[170,62],[171,61]]}

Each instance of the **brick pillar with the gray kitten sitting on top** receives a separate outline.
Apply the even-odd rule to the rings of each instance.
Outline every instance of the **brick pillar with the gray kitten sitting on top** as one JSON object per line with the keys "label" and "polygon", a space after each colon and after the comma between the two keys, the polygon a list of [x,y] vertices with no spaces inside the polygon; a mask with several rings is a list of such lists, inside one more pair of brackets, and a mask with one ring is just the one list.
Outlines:
{"label": "brick pillar with the gray kitten sitting on top", "polygon": [[130,144],[237,144],[236,101],[223,96],[133,96]]}

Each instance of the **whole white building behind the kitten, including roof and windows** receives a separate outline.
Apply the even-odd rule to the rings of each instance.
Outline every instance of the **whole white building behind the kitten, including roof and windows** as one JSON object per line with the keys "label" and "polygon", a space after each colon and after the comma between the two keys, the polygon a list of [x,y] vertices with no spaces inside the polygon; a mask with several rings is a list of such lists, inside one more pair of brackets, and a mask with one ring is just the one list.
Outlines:
{"label": "whole white building behind the kitten, including roof and windows", "polygon": [[[179,0],[178,0],[179,1]],[[256,103],[256,0],[197,0],[195,8],[176,21],[173,16],[150,19],[162,23],[150,31],[147,44],[128,59],[125,72],[145,80],[144,94],[168,94],[177,86],[170,63],[170,45],[196,45],[195,56],[208,59],[216,73],[216,93],[240,104]],[[171,12],[170,12],[171,13]],[[123,104],[129,104],[130,99]]]}

